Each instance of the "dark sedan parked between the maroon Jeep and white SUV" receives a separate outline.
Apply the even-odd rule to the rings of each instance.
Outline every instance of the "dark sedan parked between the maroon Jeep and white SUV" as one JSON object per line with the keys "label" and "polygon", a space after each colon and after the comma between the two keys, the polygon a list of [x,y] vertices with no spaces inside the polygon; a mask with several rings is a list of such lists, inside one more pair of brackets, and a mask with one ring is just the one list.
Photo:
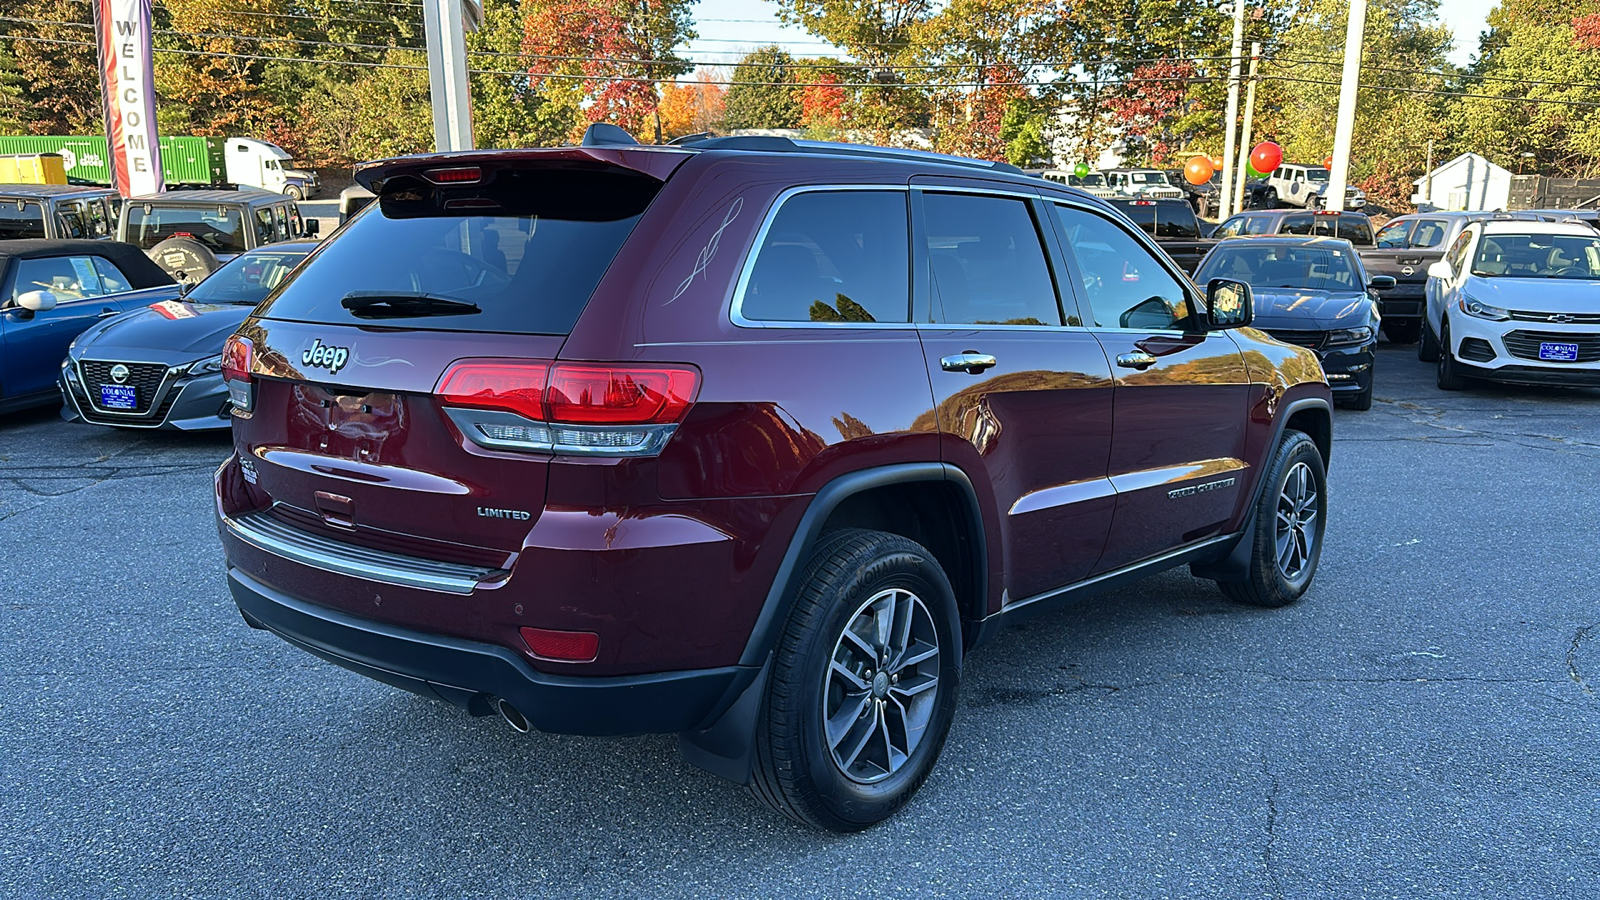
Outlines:
{"label": "dark sedan parked between the maroon Jeep and white SUV", "polygon": [[1355,410],[1373,407],[1378,299],[1389,275],[1368,277],[1349,240],[1331,237],[1235,237],[1218,243],[1195,271],[1195,282],[1234,279],[1256,298],[1254,327],[1310,348],[1333,388],[1333,399]]}

